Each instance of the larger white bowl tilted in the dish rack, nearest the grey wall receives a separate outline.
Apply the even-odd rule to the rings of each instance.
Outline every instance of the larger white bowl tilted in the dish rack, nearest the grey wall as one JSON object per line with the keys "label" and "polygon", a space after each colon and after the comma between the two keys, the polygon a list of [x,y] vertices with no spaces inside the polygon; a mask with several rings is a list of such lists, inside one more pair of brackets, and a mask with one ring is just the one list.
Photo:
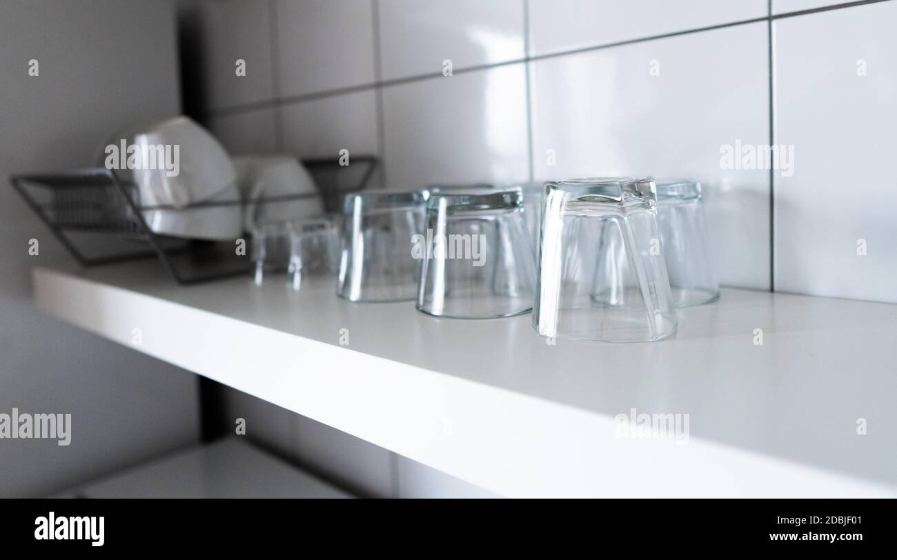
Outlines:
{"label": "larger white bowl tilted in the dish rack, nearest the grey wall", "polygon": [[[114,168],[116,177],[136,186],[144,220],[153,233],[188,239],[234,240],[240,236],[242,209],[237,174],[231,157],[215,137],[186,116],[176,116],[149,125],[131,125],[114,134],[103,147],[103,165],[119,163],[135,146],[137,168]],[[170,152],[163,155],[157,151]],[[177,147],[177,151],[175,151]],[[160,156],[177,169],[161,165]],[[154,161],[153,161],[154,159]],[[171,175],[171,173],[176,173]]]}

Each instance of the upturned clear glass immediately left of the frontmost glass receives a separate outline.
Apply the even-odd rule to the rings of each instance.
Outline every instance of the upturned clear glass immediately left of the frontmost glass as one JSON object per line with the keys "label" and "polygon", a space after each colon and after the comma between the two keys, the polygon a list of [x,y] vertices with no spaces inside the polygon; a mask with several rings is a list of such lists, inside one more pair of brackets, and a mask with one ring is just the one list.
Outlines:
{"label": "upturned clear glass immediately left of the frontmost glass", "polygon": [[417,309],[457,319],[527,313],[536,263],[518,187],[431,193]]}

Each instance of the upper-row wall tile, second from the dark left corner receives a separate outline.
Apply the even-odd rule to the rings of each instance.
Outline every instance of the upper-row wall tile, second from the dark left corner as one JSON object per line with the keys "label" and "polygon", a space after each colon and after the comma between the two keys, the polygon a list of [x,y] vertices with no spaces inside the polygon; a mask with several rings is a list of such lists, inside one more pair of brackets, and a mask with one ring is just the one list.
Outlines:
{"label": "upper-row wall tile, second from the dark left corner", "polygon": [[374,82],[371,0],[276,0],[283,97]]}

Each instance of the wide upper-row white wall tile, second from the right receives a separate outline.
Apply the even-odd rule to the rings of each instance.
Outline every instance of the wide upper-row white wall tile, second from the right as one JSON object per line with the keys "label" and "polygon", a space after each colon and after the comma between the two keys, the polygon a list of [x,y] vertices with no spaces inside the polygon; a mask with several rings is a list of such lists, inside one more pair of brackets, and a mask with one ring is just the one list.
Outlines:
{"label": "wide upper-row white wall tile, second from the right", "polygon": [[530,54],[544,55],[628,39],[763,17],[767,0],[528,0]]}

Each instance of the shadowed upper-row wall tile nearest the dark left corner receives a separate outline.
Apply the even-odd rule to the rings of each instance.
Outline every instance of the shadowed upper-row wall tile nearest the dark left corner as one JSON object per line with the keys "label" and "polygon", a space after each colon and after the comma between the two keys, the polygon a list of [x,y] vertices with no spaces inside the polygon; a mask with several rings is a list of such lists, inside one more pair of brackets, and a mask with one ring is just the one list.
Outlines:
{"label": "shadowed upper-row wall tile nearest the dark left corner", "polygon": [[[274,98],[267,2],[198,2],[205,108]],[[150,46],[147,46],[150,47]],[[246,61],[238,76],[237,60]]]}

